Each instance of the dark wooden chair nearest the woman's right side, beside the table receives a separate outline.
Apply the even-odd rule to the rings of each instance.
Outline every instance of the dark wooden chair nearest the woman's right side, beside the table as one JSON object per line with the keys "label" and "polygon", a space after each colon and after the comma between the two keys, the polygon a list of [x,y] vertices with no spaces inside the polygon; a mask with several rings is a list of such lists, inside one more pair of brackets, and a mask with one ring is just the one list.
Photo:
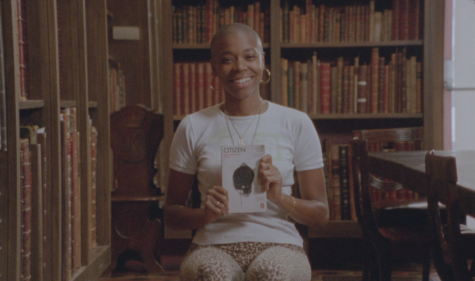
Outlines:
{"label": "dark wooden chair nearest the woman's right side, beside the table", "polygon": [[427,227],[378,225],[371,202],[373,187],[368,167],[367,141],[352,140],[348,145],[348,160],[356,217],[365,246],[363,280],[391,280],[395,261],[422,263],[423,280],[429,280],[430,249]]}

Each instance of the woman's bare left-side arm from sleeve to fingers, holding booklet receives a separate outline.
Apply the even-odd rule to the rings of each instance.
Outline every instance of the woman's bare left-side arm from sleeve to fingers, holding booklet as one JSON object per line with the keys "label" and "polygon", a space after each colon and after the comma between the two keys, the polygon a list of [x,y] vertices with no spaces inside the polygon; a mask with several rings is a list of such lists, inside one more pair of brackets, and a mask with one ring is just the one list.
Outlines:
{"label": "woman's bare left-side arm from sleeve to fingers, holding booklet", "polygon": [[167,227],[192,230],[228,214],[228,193],[220,186],[215,186],[207,192],[205,208],[193,209],[186,206],[195,177],[195,175],[170,169],[167,195],[163,207],[164,222]]}

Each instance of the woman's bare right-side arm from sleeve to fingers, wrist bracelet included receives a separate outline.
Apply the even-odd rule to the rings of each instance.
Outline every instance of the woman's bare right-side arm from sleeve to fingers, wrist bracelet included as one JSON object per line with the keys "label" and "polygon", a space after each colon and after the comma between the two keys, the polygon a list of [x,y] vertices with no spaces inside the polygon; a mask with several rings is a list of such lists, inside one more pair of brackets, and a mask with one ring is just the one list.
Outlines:
{"label": "woman's bare right-side arm from sleeve to fingers, wrist bracelet included", "polygon": [[259,166],[259,180],[267,199],[279,206],[294,221],[304,225],[322,226],[328,222],[329,211],[323,168],[297,172],[302,198],[282,193],[282,176],[274,165],[272,156],[266,155]]}

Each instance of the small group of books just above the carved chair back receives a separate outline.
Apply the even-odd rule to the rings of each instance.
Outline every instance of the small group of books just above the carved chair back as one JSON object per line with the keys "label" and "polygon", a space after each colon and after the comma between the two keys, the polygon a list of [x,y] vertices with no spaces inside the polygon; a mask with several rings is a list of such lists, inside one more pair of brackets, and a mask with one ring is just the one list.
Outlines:
{"label": "small group of books just above the carved chair back", "polygon": [[125,76],[120,64],[109,59],[109,112],[125,106]]}

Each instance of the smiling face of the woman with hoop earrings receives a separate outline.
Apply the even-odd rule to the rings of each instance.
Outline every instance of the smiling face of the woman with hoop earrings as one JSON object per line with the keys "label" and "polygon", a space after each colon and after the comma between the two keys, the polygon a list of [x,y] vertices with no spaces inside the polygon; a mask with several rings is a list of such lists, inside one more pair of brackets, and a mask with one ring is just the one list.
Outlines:
{"label": "smiling face of the woman with hoop earrings", "polygon": [[223,35],[213,45],[211,65],[227,96],[259,96],[264,70],[264,54],[259,50],[257,39],[242,31]]}

